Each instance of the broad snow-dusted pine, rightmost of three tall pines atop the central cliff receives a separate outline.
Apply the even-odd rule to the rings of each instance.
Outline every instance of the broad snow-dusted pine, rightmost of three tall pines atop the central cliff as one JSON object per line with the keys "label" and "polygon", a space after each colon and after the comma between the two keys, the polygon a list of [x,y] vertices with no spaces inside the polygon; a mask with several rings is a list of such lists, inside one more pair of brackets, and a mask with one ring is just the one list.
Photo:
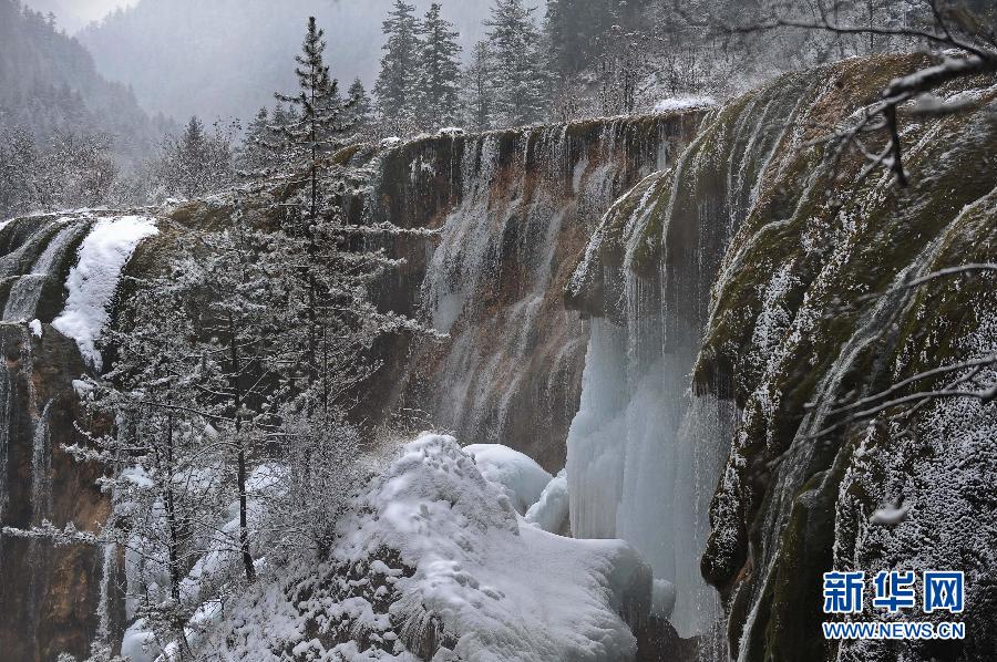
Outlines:
{"label": "broad snow-dusted pine, rightmost of three tall pines atop the central cliff", "polygon": [[545,74],[533,12],[523,0],[496,0],[485,21],[494,63],[494,116],[501,126],[544,117]]}

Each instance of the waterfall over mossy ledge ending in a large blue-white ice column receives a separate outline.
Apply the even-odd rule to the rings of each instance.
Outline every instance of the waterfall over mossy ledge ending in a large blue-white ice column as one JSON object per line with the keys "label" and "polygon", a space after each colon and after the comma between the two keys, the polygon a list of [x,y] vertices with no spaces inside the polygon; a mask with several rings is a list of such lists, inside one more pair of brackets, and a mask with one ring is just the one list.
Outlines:
{"label": "waterfall over mossy ledge ending in a large blue-white ice column", "polygon": [[567,439],[572,530],[633,544],[675,585],[669,620],[701,638],[706,660],[727,656],[720,596],[700,558],[739,411],[723,383],[693,393],[692,374],[711,288],[787,131],[775,120],[799,99],[787,85],[708,116],[670,169],[606,214],[566,289],[569,307],[594,318]]}

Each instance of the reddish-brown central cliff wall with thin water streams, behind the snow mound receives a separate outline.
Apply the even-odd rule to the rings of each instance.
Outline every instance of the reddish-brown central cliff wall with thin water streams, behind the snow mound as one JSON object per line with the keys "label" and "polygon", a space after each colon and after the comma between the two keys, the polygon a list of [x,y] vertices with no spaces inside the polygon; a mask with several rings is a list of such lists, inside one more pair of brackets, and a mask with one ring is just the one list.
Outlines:
{"label": "reddish-brown central cliff wall with thin water streams, behind the snow mound", "polygon": [[383,304],[450,338],[386,343],[379,397],[464,443],[501,442],[563,467],[588,329],[562,291],[613,201],[667,167],[701,117],[423,138],[386,154],[366,214],[440,237],[391,247],[408,263]]}

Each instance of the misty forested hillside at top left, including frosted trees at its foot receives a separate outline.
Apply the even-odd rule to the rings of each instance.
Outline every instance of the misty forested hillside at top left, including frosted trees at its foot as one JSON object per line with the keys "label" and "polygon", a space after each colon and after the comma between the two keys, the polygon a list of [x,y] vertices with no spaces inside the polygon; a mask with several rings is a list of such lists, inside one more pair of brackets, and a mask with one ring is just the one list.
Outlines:
{"label": "misty forested hillside at top left, including frosted trees at its foot", "polygon": [[18,0],[0,0],[0,218],[132,200],[127,177],[168,127],[86,50]]}

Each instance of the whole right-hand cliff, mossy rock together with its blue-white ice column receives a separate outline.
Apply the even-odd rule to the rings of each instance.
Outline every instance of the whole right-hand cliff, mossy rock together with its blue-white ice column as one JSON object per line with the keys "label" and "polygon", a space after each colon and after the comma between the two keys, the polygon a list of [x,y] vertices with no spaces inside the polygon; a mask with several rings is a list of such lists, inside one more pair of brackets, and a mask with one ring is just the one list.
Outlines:
{"label": "whole right-hand cliff, mossy rock together with its blue-white ice column", "polygon": [[[671,620],[708,635],[707,659],[994,655],[994,405],[944,399],[815,436],[841,403],[997,342],[993,275],[904,287],[997,257],[994,81],[945,91],[968,103],[958,115],[902,117],[907,189],[812,144],[915,64],[790,74],[711,114],[614,206],[566,290],[596,318],[568,436],[573,528],[625,537],[675,577]],[[898,504],[905,517],[876,524]],[[693,581],[683,604],[700,565],[721,599]],[[924,568],[966,570],[965,642],[824,641],[822,572]]]}

